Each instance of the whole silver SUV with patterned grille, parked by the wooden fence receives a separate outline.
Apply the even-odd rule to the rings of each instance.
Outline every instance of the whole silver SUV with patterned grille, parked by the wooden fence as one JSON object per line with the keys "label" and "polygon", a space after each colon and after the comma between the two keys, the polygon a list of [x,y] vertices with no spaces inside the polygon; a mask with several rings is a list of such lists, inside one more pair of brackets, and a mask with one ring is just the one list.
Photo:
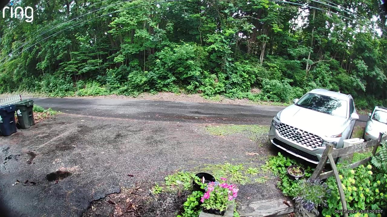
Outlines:
{"label": "whole silver SUV with patterned grille, parked by the wooden fence", "polygon": [[353,98],[315,89],[273,118],[269,139],[275,146],[311,163],[319,163],[327,144],[343,147],[352,136],[359,115]]}

